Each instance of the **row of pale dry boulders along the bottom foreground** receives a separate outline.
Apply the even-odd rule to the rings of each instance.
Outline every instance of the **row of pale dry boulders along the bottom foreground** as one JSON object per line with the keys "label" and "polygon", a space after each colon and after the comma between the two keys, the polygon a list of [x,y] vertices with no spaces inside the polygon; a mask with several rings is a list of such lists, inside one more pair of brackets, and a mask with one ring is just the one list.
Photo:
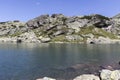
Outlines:
{"label": "row of pale dry boulders along the bottom foreground", "polygon": [[[83,74],[75,77],[73,80],[119,80],[119,79],[120,79],[120,70],[103,69],[100,71],[99,76],[94,74]],[[44,77],[36,80],[58,80],[58,79]]]}

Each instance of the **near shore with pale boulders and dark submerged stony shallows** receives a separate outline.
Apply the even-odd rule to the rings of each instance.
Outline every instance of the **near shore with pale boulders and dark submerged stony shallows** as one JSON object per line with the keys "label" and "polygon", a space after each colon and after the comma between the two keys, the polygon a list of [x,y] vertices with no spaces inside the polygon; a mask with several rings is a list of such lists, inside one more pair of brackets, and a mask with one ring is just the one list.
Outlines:
{"label": "near shore with pale boulders and dark submerged stony shallows", "polygon": [[[113,63],[111,65],[99,65],[93,63],[76,64],[62,70],[64,70],[62,74],[67,71],[70,78],[62,76],[54,76],[54,78],[51,78],[49,76],[38,78],[36,80],[120,80],[120,63]],[[57,71],[61,72],[61,70]]]}

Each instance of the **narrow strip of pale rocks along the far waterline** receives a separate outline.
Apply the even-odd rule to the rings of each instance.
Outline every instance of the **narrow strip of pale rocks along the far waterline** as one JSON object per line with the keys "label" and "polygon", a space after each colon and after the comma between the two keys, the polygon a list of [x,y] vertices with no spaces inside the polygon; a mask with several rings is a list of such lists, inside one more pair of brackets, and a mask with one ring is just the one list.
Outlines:
{"label": "narrow strip of pale rocks along the far waterline", "polygon": [[[0,42],[6,43],[6,42],[11,42],[11,43],[78,43],[78,44],[120,44],[120,40],[118,39],[108,39],[108,38],[103,38],[100,37],[98,39],[88,39],[86,43],[84,42],[62,42],[62,41],[56,41],[56,42],[46,42],[48,41],[49,38],[43,39],[41,42],[38,40],[36,37],[29,37],[27,39],[25,38],[18,38],[18,37],[2,37],[0,38]],[[102,41],[101,41],[102,40]]]}

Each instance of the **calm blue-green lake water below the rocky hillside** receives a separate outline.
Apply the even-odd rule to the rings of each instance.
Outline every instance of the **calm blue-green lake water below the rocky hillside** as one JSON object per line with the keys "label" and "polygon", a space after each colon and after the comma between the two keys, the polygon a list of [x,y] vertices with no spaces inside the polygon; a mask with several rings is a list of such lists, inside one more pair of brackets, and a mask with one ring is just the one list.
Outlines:
{"label": "calm blue-green lake water below the rocky hillside", "polygon": [[90,72],[89,66],[79,68],[79,73],[69,68],[71,66],[106,65],[118,61],[120,45],[117,44],[1,43],[0,80],[35,80],[44,76],[70,80]]}

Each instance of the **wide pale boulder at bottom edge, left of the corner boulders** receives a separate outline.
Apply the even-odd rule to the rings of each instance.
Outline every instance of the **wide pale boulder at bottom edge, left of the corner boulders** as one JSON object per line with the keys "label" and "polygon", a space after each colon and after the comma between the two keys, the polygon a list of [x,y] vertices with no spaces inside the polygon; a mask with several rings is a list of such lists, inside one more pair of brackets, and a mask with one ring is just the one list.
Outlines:
{"label": "wide pale boulder at bottom edge, left of the corner boulders", "polygon": [[83,75],[76,77],[73,80],[100,80],[100,78],[93,74],[83,74]]}

